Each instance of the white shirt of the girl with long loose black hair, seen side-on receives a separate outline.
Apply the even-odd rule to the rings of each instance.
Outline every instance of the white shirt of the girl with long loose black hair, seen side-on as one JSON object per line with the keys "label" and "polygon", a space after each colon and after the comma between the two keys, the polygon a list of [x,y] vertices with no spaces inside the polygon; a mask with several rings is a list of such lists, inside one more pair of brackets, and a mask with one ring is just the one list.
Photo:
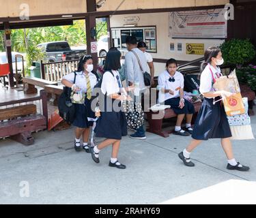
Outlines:
{"label": "white shirt of the girl with long loose black hair, seen side-on", "polygon": [[114,74],[114,76],[111,74],[111,72],[104,72],[103,74],[101,91],[104,95],[112,95],[121,92],[117,81],[117,76],[119,76],[119,82],[121,82],[120,74],[116,70],[112,70],[112,73]]}

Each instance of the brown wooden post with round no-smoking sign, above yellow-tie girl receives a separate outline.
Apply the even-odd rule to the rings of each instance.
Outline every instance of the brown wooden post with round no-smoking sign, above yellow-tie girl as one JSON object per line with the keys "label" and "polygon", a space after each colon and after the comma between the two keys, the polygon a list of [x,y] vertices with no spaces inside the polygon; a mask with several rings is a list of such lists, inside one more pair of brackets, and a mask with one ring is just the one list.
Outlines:
{"label": "brown wooden post with round no-smoking sign, above yellow-tie girl", "polygon": [[[87,12],[96,12],[96,0],[87,0]],[[89,15],[85,18],[87,54],[91,55],[94,60],[94,71],[97,71],[98,52],[91,53],[91,42],[97,42],[96,38],[96,16]]]}

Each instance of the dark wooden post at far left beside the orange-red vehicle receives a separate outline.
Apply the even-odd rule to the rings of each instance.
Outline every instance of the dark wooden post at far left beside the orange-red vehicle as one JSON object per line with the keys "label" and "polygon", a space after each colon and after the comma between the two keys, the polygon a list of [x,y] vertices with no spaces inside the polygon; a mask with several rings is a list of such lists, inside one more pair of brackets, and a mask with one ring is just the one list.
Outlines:
{"label": "dark wooden post at far left beside the orange-red vehicle", "polygon": [[10,42],[11,40],[11,33],[10,33],[10,23],[3,22],[4,29],[5,29],[5,52],[8,59],[8,63],[10,65],[10,74],[9,74],[9,87],[14,88],[14,71],[12,68],[12,45],[7,44],[6,42]]}

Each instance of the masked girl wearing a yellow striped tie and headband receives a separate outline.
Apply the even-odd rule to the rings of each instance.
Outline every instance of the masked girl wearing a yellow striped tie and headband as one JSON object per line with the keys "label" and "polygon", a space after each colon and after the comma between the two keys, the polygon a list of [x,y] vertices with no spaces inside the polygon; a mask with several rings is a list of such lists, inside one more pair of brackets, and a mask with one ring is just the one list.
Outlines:
{"label": "masked girl wearing a yellow striped tie and headband", "polygon": [[[75,129],[74,149],[81,151],[81,136],[83,136],[83,149],[90,153],[88,140],[90,134],[90,127],[93,122],[88,121],[88,117],[93,118],[94,112],[91,110],[91,92],[98,82],[98,77],[93,72],[94,65],[91,55],[85,55],[79,61],[77,71],[63,77],[61,81],[66,87],[72,88],[76,94],[73,95],[75,102],[76,117],[72,123]],[[76,78],[74,82],[74,78]],[[76,96],[76,97],[74,97]]]}

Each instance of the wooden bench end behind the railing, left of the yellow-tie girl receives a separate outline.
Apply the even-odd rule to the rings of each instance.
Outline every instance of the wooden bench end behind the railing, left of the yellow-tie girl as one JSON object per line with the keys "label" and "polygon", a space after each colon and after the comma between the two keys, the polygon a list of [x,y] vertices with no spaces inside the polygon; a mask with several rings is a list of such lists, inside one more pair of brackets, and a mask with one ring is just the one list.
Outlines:
{"label": "wooden bench end behind the railing, left of the yellow-tie girl", "polygon": [[36,89],[35,86],[42,87],[44,89],[44,87],[47,85],[57,86],[58,82],[51,82],[48,80],[43,80],[40,78],[29,77],[29,76],[26,76],[23,78],[23,91],[25,94],[38,93],[38,89]]}

